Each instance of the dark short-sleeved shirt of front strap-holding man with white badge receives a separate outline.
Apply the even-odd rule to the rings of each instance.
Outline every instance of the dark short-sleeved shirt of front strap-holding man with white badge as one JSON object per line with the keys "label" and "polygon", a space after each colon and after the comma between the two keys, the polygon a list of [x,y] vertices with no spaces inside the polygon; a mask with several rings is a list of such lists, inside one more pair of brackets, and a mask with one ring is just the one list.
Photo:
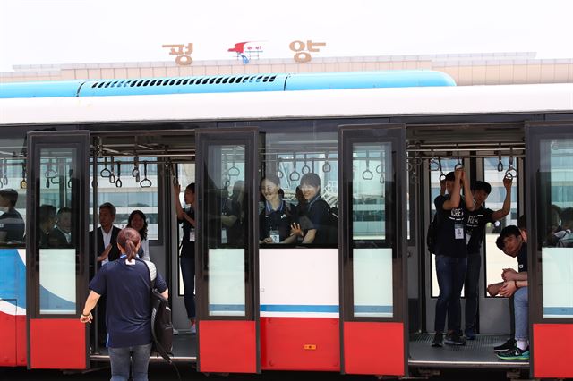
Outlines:
{"label": "dark short-sleeved shirt of front strap-holding man with white badge", "polygon": [[[449,257],[466,257],[466,229],[464,227],[464,208],[459,205],[451,210],[444,210],[444,202],[449,195],[438,196],[434,205],[438,213],[438,235],[436,237],[436,255]],[[460,199],[460,204],[461,204]]]}

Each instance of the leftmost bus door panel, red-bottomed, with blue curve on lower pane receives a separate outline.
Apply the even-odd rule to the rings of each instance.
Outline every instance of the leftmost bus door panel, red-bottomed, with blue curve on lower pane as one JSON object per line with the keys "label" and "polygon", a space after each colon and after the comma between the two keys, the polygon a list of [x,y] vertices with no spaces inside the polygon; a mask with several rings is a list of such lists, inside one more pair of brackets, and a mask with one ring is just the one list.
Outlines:
{"label": "leftmost bus door panel, red-bottomed, with blue curve on lower pane", "polygon": [[28,133],[28,368],[88,368],[80,314],[89,276],[89,139],[89,131]]}

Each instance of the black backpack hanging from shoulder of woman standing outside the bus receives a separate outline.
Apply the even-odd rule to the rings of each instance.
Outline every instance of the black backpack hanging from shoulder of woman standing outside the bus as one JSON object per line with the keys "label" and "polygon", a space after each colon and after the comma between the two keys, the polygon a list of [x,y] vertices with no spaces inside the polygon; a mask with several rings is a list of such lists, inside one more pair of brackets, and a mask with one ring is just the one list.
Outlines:
{"label": "black backpack hanging from shoulder of woman standing outside the bus", "polygon": [[151,352],[156,352],[167,362],[171,362],[171,357],[173,357],[173,323],[169,301],[155,288],[155,278],[157,277],[155,265],[146,260],[143,263],[150,271],[151,280],[151,334],[153,336]]}

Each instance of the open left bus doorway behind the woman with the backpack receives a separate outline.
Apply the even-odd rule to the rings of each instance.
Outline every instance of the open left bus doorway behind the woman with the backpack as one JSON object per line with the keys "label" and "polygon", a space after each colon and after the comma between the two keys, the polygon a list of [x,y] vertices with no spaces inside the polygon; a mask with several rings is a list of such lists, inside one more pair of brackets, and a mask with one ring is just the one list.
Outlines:
{"label": "open left bus doorway behind the woman with the backpack", "polygon": [[[137,131],[109,132],[111,130],[113,127],[104,133],[91,134],[90,231],[94,225],[99,226],[99,206],[105,203],[114,205],[114,225],[120,229],[128,225],[133,211],[140,211],[146,217],[145,247],[149,248],[150,260],[166,278],[172,303],[177,333],[174,359],[195,361],[196,335],[190,332],[180,270],[183,234],[175,214],[175,199],[185,207],[185,186],[195,181],[194,131],[153,131],[145,126]],[[181,184],[180,195],[175,195],[175,183]],[[97,248],[90,248],[90,253],[94,250]],[[98,338],[101,338],[101,323],[94,322],[91,331],[94,330],[98,330]],[[95,341],[95,334],[90,334],[91,342]],[[98,340],[91,343],[91,347],[92,360],[107,360],[105,343]]]}

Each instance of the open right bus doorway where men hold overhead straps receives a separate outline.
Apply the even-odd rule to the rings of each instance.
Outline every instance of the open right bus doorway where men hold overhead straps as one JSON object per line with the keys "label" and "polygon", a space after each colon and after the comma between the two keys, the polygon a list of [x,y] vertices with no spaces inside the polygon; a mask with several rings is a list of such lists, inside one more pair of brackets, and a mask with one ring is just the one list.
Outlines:
{"label": "open right bus doorway where men hold overhead straps", "polygon": [[[411,366],[428,368],[448,364],[459,366],[462,363],[491,368],[509,365],[527,368],[526,361],[508,364],[507,361],[499,360],[493,351],[495,346],[509,338],[509,302],[506,298],[491,297],[486,292],[488,284],[500,282],[503,268],[517,268],[517,260],[505,256],[496,247],[495,241],[500,230],[509,224],[517,224],[517,217],[524,212],[523,180],[519,175],[525,157],[523,126],[479,123],[408,126],[408,129],[409,363]],[[492,191],[484,207],[493,211],[503,206],[506,196],[503,178],[511,166],[514,178],[510,190],[510,210],[507,216],[485,227],[477,282],[478,308],[474,326],[476,340],[466,340],[465,345],[433,348],[436,301],[440,287],[435,255],[428,251],[426,234],[435,214],[434,199],[440,194],[440,176],[454,171],[457,166],[463,166],[472,184],[476,181],[491,184]],[[462,290],[461,315],[463,331],[468,319],[465,288]]]}

